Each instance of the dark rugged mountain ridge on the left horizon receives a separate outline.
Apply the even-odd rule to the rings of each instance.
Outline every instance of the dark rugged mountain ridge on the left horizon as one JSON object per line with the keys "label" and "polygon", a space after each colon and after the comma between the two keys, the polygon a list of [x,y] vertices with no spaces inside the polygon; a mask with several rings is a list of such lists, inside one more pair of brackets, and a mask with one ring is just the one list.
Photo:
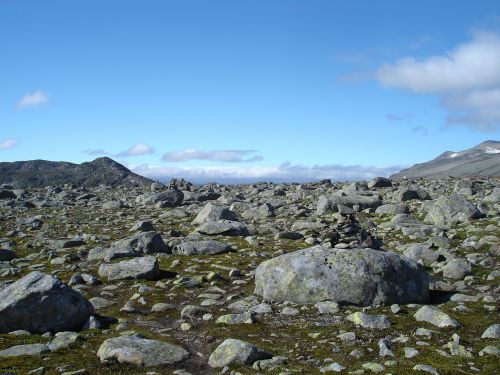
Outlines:
{"label": "dark rugged mountain ridge on the left horizon", "polygon": [[47,160],[0,163],[0,184],[16,188],[75,184],[93,187],[146,185],[153,181],[139,176],[113,159],[104,157],[91,162],[73,164]]}

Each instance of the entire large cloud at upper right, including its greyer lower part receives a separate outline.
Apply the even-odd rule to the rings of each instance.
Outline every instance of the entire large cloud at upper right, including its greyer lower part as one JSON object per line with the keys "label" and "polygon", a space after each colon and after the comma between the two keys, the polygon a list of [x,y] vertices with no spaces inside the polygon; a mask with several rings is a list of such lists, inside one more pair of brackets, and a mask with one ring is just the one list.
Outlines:
{"label": "entire large cloud at upper right, including its greyer lower part", "polygon": [[377,71],[385,87],[436,94],[448,112],[446,125],[488,132],[500,129],[500,35],[476,32],[443,55],[405,57]]}

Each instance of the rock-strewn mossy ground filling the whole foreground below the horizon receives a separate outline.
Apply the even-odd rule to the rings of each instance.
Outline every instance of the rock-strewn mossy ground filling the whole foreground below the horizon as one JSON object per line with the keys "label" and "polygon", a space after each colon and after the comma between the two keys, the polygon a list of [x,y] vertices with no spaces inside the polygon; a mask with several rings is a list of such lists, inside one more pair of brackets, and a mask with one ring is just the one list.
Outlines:
{"label": "rock-strewn mossy ground filling the whole foreground below the horizon", "polygon": [[2,374],[499,373],[500,180],[19,173],[0,190]]}

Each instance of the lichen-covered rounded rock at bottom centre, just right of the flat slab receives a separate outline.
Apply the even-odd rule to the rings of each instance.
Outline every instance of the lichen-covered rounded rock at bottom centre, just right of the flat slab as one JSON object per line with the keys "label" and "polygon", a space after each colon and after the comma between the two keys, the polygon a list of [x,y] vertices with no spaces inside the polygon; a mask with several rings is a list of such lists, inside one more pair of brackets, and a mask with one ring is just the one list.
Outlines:
{"label": "lichen-covered rounded rock at bottom centre, just right of the flat slab", "polygon": [[218,368],[229,365],[252,365],[262,359],[272,358],[272,354],[257,348],[248,342],[226,339],[208,359],[210,367]]}

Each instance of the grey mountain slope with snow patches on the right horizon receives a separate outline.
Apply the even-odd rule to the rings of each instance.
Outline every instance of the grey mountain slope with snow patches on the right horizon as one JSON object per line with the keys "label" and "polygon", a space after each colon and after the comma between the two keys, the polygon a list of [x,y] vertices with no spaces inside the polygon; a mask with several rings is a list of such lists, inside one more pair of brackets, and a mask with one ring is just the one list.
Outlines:
{"label": "grey mountain slope with snow patches on the right horizon", "polygon": [[500,176],[500,142],[486,141],[464,151],[446,151],[427,163],[415,164],[393,179]]}

